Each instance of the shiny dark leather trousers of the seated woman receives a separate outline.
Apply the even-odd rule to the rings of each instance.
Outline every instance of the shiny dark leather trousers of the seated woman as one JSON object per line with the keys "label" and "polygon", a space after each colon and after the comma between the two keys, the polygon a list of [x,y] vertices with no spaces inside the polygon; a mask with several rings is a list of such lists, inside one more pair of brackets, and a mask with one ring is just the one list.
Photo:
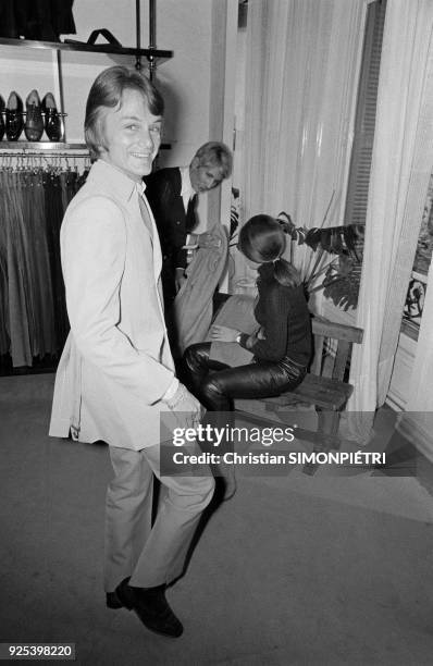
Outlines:
{"label": "shiny dark leather trousers of the seated woman", "polygon": [[262,398],[295,388],[306,370],[288,360],[260,361],[230,368],[209,358],[211,343],[188,347],[184,354],[189,390],[210,411],[230,411],[233,398]]}

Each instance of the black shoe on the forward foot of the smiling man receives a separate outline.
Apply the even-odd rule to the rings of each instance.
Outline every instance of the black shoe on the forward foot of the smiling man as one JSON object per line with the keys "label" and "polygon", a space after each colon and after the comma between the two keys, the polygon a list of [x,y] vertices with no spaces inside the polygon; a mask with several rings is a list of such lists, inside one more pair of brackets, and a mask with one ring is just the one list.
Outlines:
{"label": "black shoe on the forward foot of the smiling man", "polygon": [[178,638],[184,628],[165,599],[165,585],[133,588],[125,578],[115,589],[117,600],[128,610],[135,610],[141,622],[156,633]]}

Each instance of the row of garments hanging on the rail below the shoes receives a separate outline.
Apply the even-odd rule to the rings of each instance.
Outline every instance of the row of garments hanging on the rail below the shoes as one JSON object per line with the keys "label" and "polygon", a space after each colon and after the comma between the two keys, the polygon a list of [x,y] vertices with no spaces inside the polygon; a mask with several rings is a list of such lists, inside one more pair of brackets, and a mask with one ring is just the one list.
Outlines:
{"label": "row of garments hanging on the rail below the shoes", "polygon": [[60,226],[82,183],[59,165],[0,170],[0,355],[10,354],[14,368],[55,358],[64,346]]}

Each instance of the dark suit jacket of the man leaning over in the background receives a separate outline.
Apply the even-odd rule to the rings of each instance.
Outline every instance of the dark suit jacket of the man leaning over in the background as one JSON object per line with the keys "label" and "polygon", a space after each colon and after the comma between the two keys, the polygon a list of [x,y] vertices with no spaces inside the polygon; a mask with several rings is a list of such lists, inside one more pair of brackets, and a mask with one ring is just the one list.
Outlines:
{"label": "dark suit jacket of the man leaning over in the background", "polygon": [[175,270],[186,268],[186,250],[182,249],[186,236],[198,223],[196,205],[197,195],[188,213],[185,212],[181,196],[182,176],[178,166],[160,169],[146,176],[146,197],[152,209],[162,249],[162,288],[165,305],[170,305],[176,295]]}

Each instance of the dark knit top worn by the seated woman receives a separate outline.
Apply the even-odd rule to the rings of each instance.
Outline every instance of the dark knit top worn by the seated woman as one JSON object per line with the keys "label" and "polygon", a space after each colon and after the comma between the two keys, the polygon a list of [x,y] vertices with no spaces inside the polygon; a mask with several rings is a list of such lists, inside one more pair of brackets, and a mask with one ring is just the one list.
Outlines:
{"label": "dark knit top worn by the seated woman", "polygon": [[[263,340],[249,348],[257,360],[280,361],[288,357],[308,366],[311,357],[311,318],[302,285],[284,286],[273,274],[273,263],[262,263],[257,282],[259,298],[255,317],[262,328]],[[240,344],[246,347],[248,335]]]}

